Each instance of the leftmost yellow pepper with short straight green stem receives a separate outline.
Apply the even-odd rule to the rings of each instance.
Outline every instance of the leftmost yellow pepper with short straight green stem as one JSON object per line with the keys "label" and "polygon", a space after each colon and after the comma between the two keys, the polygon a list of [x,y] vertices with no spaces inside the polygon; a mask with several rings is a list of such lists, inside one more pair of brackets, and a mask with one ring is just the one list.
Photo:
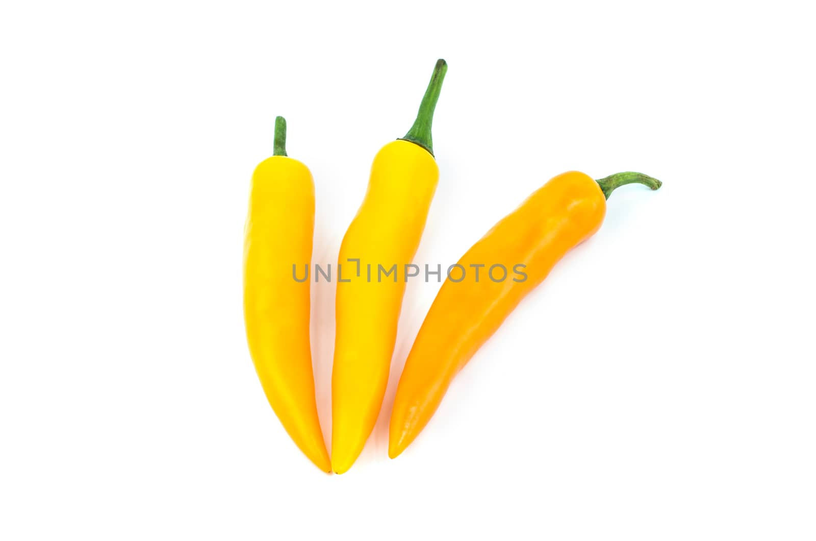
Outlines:
{"label": "leftmost yellow pepper with short straight green stem", "polygon": [[[275,155],[252,174],[244,237],[246,340],[264,393],[301,451],[331,471],[314,395],[309,344],[309,280],[293,265],[312,261],[314,181],[286,156],[286,121],[275,123]],[[303,272],[301,270],[301,272]]]}

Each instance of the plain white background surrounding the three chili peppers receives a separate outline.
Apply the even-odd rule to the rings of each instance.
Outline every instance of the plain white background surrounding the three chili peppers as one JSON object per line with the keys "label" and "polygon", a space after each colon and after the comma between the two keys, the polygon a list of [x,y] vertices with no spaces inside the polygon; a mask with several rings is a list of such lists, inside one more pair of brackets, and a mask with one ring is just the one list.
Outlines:
{"label": "plain white background surrounding the three chili peppers", "polygon": [[[808,4],[3,2],[0,538],[816,538]],[[328,476],[246,350],[249,178],[286,116],[334,262],[437,57],[417,262],[565,170],[664,186],[612,196],[392,461],[439,287],[410,283],[375,434]]]}

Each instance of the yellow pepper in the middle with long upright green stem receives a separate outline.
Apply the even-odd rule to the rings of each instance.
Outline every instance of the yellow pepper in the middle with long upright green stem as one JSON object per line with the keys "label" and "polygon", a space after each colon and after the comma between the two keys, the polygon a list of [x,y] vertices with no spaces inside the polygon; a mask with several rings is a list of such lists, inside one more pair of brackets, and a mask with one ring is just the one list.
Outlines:
{"label": "yellow pepper in the middle with long upright green stem", "polygon": [[[406,288],[402,273],[419,247],[439,178],[431,120],[446,69],[439,60],[410,132],[375,156],[366,198],[340,246],[331,376],[336,473],[352,467],[366,445],[388,385]],[[385,272],[393,265],[397,274],[382,278],[380,266]]]}

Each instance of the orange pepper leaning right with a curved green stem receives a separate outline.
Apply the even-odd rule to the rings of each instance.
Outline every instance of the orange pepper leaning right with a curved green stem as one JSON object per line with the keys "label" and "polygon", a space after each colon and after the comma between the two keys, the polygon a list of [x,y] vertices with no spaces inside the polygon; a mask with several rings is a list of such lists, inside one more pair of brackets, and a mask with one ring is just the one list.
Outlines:
{"label": "orange pepper leaning right with a curved green stem", "polygon": [[[391,414],[388,456],[396,458],[428,424],[459,370],[570,249],[604,220],[606,198],[623,184],[660,182],[641,173],[594,181],[565,172],[530,195],[459,259],[460,282],[446,279],[437,293],[402,371]],[[517,267],[518,265],[524,267]],[[480,276],[477,281],[477,265]],[[488,274],[490,266],[503,265]],[[521,270],[521,274],[513,270]],[[452,270],[459,278],[461,270]],[[524,278],[526,275],[526,279]]]}

